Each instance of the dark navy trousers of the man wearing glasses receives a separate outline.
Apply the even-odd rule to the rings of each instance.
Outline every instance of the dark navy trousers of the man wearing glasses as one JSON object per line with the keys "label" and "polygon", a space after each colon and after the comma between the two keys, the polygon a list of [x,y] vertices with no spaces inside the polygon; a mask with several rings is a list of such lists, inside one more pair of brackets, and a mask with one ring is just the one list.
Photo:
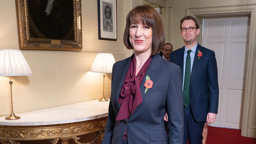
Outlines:
{"label": "dark navy trousers of the man wearing glasses", "polygon": [[184,107],[184,141],[183,144],[202,144],[203,128],[205,122],[196,122],[193,117],[191,105]]}

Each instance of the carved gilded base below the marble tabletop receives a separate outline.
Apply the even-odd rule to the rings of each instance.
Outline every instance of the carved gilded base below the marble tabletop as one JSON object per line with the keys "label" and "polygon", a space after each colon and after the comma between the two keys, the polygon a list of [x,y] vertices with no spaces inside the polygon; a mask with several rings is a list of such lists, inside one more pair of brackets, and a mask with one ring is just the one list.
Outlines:
{"label": "carved gilded base below the marble tabletop", "polygon": [[41,125],[41,126],[0,126],[0,142],[2,144],[22,144],[22,141],[30,140],[47,140],[51,144],[57,144],[61,140],[62,144],[69,144],[69,140],[76,144],[85,144],[78,142],[79,135],[85,135],[93,132],[96,137],[93,141],[86,144],[93,144],[99,138],[102,140],[105,130],[107,117],[66,123],[56,125]]}

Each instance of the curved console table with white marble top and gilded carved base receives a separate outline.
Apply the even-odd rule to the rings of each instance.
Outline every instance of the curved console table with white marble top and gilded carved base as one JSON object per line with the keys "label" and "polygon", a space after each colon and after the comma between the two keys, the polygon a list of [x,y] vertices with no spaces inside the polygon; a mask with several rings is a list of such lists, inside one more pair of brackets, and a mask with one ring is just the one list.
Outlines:
{"label": "curved console table with white marble top and gilded carved base", "polygon": [[[91,100],[64,106],[46,108],[16,114],[21,119],[5,120],[0,117],[0,142],[2,144],[23,144],[22,141],[49,140],[51,144],[77,144],[79,135],[93,132],[96,137],[86,144],[102,140],[108,116],[107,102]],[[60,142],[59,142],[60,143]]]}

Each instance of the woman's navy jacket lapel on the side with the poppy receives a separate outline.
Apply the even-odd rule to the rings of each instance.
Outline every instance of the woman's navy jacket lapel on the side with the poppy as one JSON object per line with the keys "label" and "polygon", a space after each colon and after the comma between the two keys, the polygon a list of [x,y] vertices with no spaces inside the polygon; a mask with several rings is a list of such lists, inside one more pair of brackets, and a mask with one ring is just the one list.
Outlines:
{"label": "woman's navy jacket lapel on the side with the poppy", "polygon": [[142,99],[144,99],[146,97],[146,95],[148,94],[148,92],[150,91],[150,89],[148,89],[147,93],[145,93],[145,81],[146,81],[146,76],[148,75],[150,77],[150,80],[153,82],[153,86],[154,86],[154,81],[157,79],[157,76],[160,72],[160,65],[161,65],[161,57],[156,54],[154,55],[154,57],[152,58],[148,69],[146,71],[146,74],[144,75],[144,78],[142,79],[141,85],[140,85],[140,91],[141,91],[141,96]]}

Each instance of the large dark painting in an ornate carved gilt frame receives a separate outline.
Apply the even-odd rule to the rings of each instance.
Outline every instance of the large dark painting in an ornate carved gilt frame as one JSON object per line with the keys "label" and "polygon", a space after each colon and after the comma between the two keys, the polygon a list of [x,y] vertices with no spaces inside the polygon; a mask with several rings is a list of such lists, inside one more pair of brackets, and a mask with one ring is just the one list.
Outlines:
{"label": "large dark painting in an ornate carved gilt frame", "polygon": [[16,0],[21,50],[82,50],[81,0]]}

